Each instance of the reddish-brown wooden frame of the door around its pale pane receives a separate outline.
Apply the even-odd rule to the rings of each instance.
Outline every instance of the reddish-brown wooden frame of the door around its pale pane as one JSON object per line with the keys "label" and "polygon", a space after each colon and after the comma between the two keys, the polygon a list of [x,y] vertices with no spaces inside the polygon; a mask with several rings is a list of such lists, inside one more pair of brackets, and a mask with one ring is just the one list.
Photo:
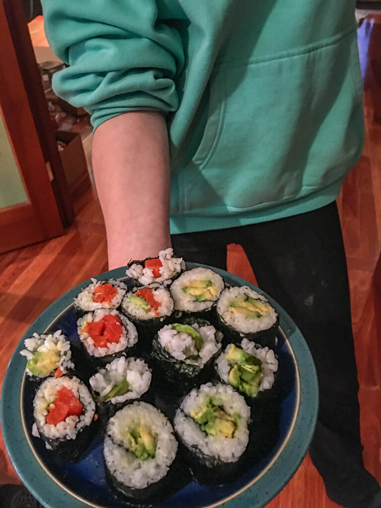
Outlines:
{"label": "reddish-brown wooden frame of the door around its pale pane", "polygon": [[28,201],[0,209],[0,251],[63,233],[62,222],[0,2],[0,107]]}

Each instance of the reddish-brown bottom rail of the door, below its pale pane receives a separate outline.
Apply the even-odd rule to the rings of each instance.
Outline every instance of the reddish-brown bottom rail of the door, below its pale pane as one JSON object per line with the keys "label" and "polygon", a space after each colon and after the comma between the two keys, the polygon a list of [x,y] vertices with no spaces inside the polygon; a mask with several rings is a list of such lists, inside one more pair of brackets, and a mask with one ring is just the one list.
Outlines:
{"label": "reddish-brown bottom rail of the door, below its pale pane", "polygon": [[0,209],[0,253],[45,239],[31,203]]}

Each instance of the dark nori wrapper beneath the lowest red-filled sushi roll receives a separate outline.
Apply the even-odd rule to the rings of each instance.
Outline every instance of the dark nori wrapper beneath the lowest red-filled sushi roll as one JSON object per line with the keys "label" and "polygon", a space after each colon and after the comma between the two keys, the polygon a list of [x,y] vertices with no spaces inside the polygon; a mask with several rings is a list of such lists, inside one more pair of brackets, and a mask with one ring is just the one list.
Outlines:
{"label": "dark nori wrapper beneath the lowest red-filled sushi roll", "polygon": [[96,433],[96,426],[97,423],[91,420],[89,425],[82,427],[82,429],[78,431],[75,439],[67,439],[66,437],[52,439],[46,437],[43,433],[41,433],[40,436],[61,459],[65,459],[69,462],[76,462],[79,456],[88,448]]}

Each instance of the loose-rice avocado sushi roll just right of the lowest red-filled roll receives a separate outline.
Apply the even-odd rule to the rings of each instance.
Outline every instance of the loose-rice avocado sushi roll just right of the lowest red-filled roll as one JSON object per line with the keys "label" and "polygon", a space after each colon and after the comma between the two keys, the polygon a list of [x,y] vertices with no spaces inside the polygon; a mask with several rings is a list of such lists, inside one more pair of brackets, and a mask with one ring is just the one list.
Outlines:
{"label": "loose-rice avocado sushi roll just right of the lowest red-filled roll", "polygon": [[151,383],[151,371],[144,360],[116,358],[90,377],[89,383],[97,403],[101,424],[114,416],[126,403],[140,397]]}

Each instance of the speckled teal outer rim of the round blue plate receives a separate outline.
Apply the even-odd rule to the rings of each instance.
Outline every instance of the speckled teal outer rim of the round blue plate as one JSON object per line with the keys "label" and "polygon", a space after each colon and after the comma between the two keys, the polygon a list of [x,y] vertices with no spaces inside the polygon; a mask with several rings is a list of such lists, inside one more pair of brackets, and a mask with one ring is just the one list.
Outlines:
{"label": "speckled teal outer rim of the round blue plate", "polygon": [[[241,277],[238,277],[237,275],[227,272],[225,270],[220,270],[220,269],[208,266],[208,265],[195,264],[195,263],[190,263],[190,262],[187,262],[186,266],[187,266],[187,269],[192,269],[194,266],[202,266],[202,267],[206,267],[206,268],[211,268],[212,270],[215,270],[217,273],[220,273],[220,275],[222,275],[223,277],[224,276],[225,277],[226,276],[232,277],[235,280],[235,283],[237,283],[237,284],[249,285],[249,287],[251,287],[255,290],[259,289],[254,284],[249,283],[247,280],[242,279]],[[103,272],[94,278],[97,278],[98,280],[102,280],[103,278],[122,279],[125,277],[126,277],[125,276],[125,267],[121,267],[121,268],[117,268],[117,269],[110,270],[107,272]],[[35,326],[35,323],[37,323],[40,320],[42,322],[44,322],[44,320],[45,320],[45,323],[47,321],[49,321],[49,323],[44,325],[45,326],[44,330],[45,330],[52,323],[54,323],[54,321],[59,317],[59,315],[61,315],[62,312],[65,312],[72,305],[72,300],[71,300],[71,302],[68,305],[66,305],[65,308],[63,308],[56,314],[54,312],[54,309],[57,305],[57,302],[60,302],[61,300],[72,299],[80,291],[81,287],[84,287],[85,285],[87,285],[89,283],[91,283],[91,279],[87,279],[86,281],[81,282],[80,284],[76,285],[74,288],[69,290],[67,293],[63,294],[57,300],[52,302],[37,317],[37,319],[34,321],[33,324],[31,324],[31,326],[25,332],[24,336],[19,341],[19,343],[12,355],[11,361],[9,362],[9,365],[8,365],[8,368],[7,368],[5,377],[4,377],[2,397],[0,400],[0,420],[1,420],[1,426],[2,426],[6,449],[8,451],[10,458],[11,458],[12,464],[14,465],[17,473],[19,474],[19,477],[22,479],[22,481],[25,483],[25,485],[28,487],[28,489],[35,495],[35,497],[37,499],[39,499],[41,502],[43,502],[49,508],[56,508],[56,507],[53,506],[53,504],[51,504],[51,502],[52,502],[51,499],[48,501],[45,500],[45,496],[43,497],[40,494],[40,492],[35,489],[34,482],[32,482],[31,478],[30,478],[30,477],[33,477],[33,474],[30,474],[30,468],[27,467],[25,461],[19,460],[19,457],[17,457],[18,454],[16,453],[16,449],[15,449],[17,447],[15,447],[14,444],[12,444],[12,437],[8,435],[8,426],[6,423],[4,423],[4,422],[7,422],[7,414],[5,411],[5,408],[6,408],[5,399],[7,397],[3,394],[4,393],[8,394],[8,392],[5,390],[7,389],[7,387],[9,387],[9,385],[11,383],[11,377],[12,377],[13,370],[15,370],[15,369],[17,369],[17,367],[19,367],[19,365],[17,365],[17,360],[19,360],[19,358],[20,358],[19,351],[24,347],[23,341],[25,338],[30,336],[32,329],[34,328],[36,330],[37,327]],[[298,376],[297,376],[297,379],[298,379],[297,408],[296,408],[296,411],[294,411],[292,426],[289,429],[287,436],[285,436],[285,438],[283,440],[281,449],[275,454],[273,459],[266,466],[265,470],[259,472],[255,479],[248,482],[245,486],[241,487],[240,489],[238,489],[236,492],[234,492],[230,496],[228,496],[220,501],[217,501],[215,503],[212,503],[208,506],[205,506],[204,508],[212,508],[212,507],[216,507],[216,506],[221,506],[221,507],[226,507],[226,508],[228,508],[228,506],[229,506],[229,508],[233,508],[233,503],[235,504],[235,506],[237,506],[237,502],[239,503],[240,507],[242,506],[242,508],[244,508],[244,506],[246,505],[246,501],[249,502],[249,504],[247,506],[250,506],[250,508],[260,508],[261,506],[265,506],[271,499],[273,499],[280,492],[280,490],[282,490],[282,488],[290,481],[290,479],[295,474],[297,468],[299,467],[300,463],[302,462],[302,460],[307,452],[307,449],[308,449],[309,443],[312,439],[314,428],[316,425],[319,396],[318,396],[318,388],[317,388],[316,371],[315,371],[315,367],[314,367],[308,346],[307,346],[301,332],[296,327],[295,323],[291,320],[291,317],[287,314],[287,312],[285,312],[276,302],[274,302],[274,300],[269,295],[267,295],[263,290],[260,289],[259,291],[269,299],[270,303],[272,303],[272,304],[275,303],[276,308],[278,310],[278,314],[279,314],[280,324],[283,325],[280,327],[281,333],[284,335],[285,339],[287,339],[288,347],[291,349],[293,357],[294,357],[293,361],[295,363],[297,373],[298,373]],[[49,319],[48,316],[51,314],[52,310],[54,313],[54,317]],[[288,337],[287,329],[284,330],[284,325],[289,325],[289,326],[291,325],[291,328],[293,328],[293,335],[294,336],[293,336],[292,341],[290,341],[290,339]],[[40,326],[40,328],[41,328],[41,326]],[[295,342],[295,344],[293,344],[292,342]],[[306,372],[303,372],[303,370],[304,370],[303,368],[302,368],[302,372],[300,372],[300,370],[301,370],[300,365],[297,361],[298,355],[296,354],[294,347],[296,347],[297,349],[300,348],[302,350],[301,353],[303,353],[303,355],[304,355],[303,359],[308,364],[308,369],[306,369]],[[17,386],[19,387],[18,393],[19,393],[19,397],[20,397],[20,403],[21,403],[21,397],[22,397],[23,379],[25,376],[25,369],[23,369],[23,370],[24,370],[24,375],[22,376],[22,379],[20,382],[21,387],[20,387],[20,383],[16,383]],[[305,374],[307,374],[307,371],[308,371],[309,375],[305,376]],[[306,390],[301,390],[302,378],[305,378],[304,379],[304,385],[305,385],[304,389],[308,388],[307,389],[308,399],[309,399],[308,405],[306,405],[306,400],[304,400],[304,405],[302,402],[302,399],[306,399],[306,393],[305,393]],[[15,385],[15,383],[13,383],[13,385]],[[21,388],[21,390],[20,390],[20,388]],[[23,434],[24,434],[26,429],[24,427],[24,420],[23,420],[23,416],[22,416],[21,407],[19,406],[19,408],[20,408],[20,412],[19,412],[18,416],[21,419],[21,430],[23,431]],[[298,429],[297,422],[299,420],[299,424],[300,424],[301,420],[306,420],[306,419],[309,421],[309,423],[312,423],[312,425],[304,424],[303,426],[300,426],[299,434],[301,433],[302,437],[303,437],[301,439],[302,446],[300,446],[300,442],[299,442],[298,449],[291,450],[292,442],[290,442],[290,441],[292,441],[293,436],[294,436],[294,440],[295,440],[294,430],[295,430],[295,428]],[[18,423],[20,423],[20,422],[18,422]],[[9,428],[10,433],[11,433],[11,429],[14,429],[14,425],[11,425],[11,427]],[[298,441],[300,441],[300,437],[301,436],[299,435]],[[30,443],[29,436],[26,435],[26,432],[25,432],[23,438],[24,439],[22,439],[21,441],[25,441],[25,445],[26,445],[28,452],[33,456],[33,457],[31,457],[32,461],[36,462],[37,467],[40,469],[40,473],[43,472],[45,486],[46,486],[46,483],[49,484],[51,482],[52,485],[50,485],[50,490],[52,490],[53,492],[56,491],[55,494],[57,494],[57,489],[58,489],[59,493],[61,494],[60,497],[66,497],[67,498],[66,500],[69,501],[68,504],[63,505],[62,501],[60,499],[60,501],[59,501],[60,508],[64,508],[64,507],[66,508],[66,506],[68,506],[68,508],[69,508],[69,506],[73,507],[74,500],[77,501],[75,504],[76,508],[77,508],[77,506],[78,506],[78,508],[79,507],[84,508],[84,507],[88,507],[88,506],[102,508],[102,505],[93,504],[92,502],[79,497],[76,493],[71,492],[70,490],[68,490],[68,488],[66,488],[66,487],[62,488],[62,486],[60,485],[60,482],[58,480],[56,480],[50,472],[47,472],[46,466],[43,464],[42,460],[39,459],[37,452],[35,452],[35,448],[33,447],[33,444]],[[296,444],[296,443],[294,443],[294,444]],[[22,448],[22,447],[19,447],[19,448]],[[293,459],[292,459],[292,463],[294,465],[289,468],[288,474],[284,474],[284,472],[283,472],[280,475],[280,481],[279,481],[279,474],[276,472],[276,469],[279,468],[280,458],[282,456],[283,456],[283,459],[287,459],[288,457],[291,458],[290,456],[293,455],[292,452],[294,452],[294,454],[296,454],[296,456],[293,457]],[[266,491],[262,495],[260,495],[259,491],[263,490],[263,489],[261,489],[261,487],[264,487],[263,485],[261,485],[261,483],[262,484],[266,483],[266,480],[269,479],[268,474],[271,472],[271,470],[273,471],[272,476],[274,476],[275,479],[277,480],[277,482],[275,481],[275,484],[277,484],[277,485],[276,486],[274,485],[274,479],[273,479],[273,481],[271,482],[271,488],[267,487]],[[280,473],[280,471],[279,471],[279,473]],[[254,490],[256,490],[257,492],[253,492]],[[255,497],[254,497],[253,494],[257,494],[257,495],[255,495]],[[255,498],[257,498],[257,499],[255,499]],[[252,504],[253,502],[255,502],[255,504]]]}

